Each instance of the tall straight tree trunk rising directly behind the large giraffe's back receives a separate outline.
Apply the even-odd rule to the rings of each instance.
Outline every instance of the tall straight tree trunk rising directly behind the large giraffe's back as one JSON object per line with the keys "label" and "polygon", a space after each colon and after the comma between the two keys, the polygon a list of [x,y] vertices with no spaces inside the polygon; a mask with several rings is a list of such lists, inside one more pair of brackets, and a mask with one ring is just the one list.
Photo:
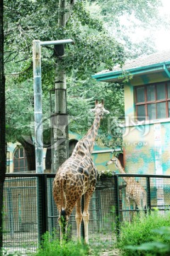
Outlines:
{"label": "tall straight tree trunk rising directly behind the large giraffe's back", "polygon": [[[66,26],[66,0],[59,1],[58,26]],[[62,38],[64,39],[64,38]],[[64,55],[64,45],[55,46],[56,70],[55,70],[55,127],[53,127],[54,151],[52,171],[56,172],[58,167],[64,163],[68,156],[68,134],[67,134],[67,90],[66,73],[60,69],[60,60]]]}

